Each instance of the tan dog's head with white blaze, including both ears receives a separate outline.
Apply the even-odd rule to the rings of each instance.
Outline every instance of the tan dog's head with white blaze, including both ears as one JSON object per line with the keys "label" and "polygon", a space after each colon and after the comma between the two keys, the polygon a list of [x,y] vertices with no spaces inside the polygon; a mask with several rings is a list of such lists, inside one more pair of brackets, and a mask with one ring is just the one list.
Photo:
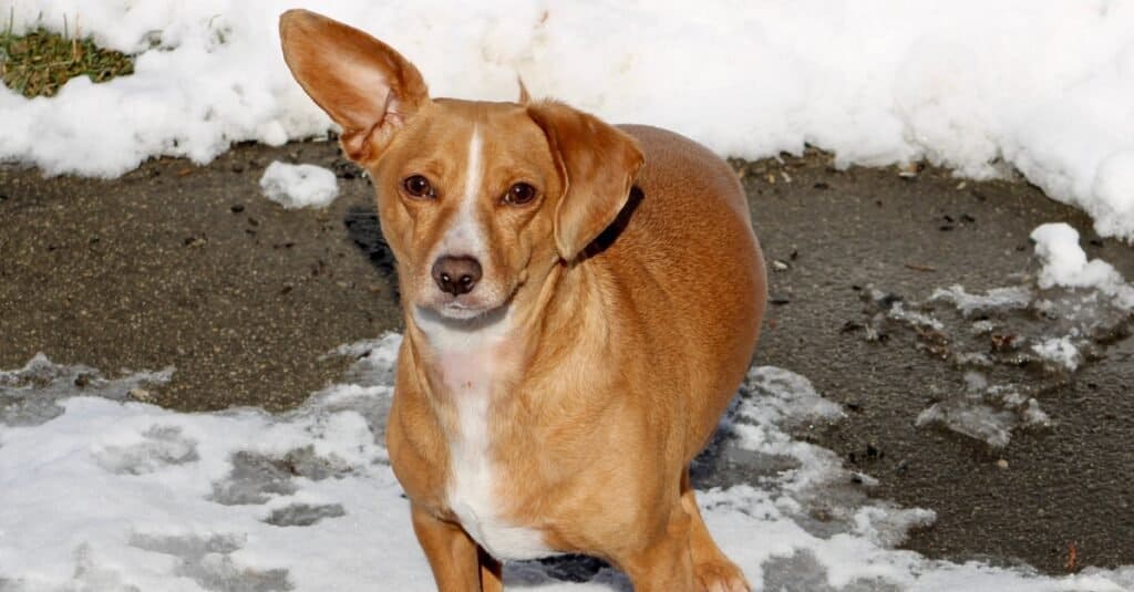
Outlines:
{"label": "tan dog's head with white blaze, including both ears", "polygon": [[556,102],[432,100],[413,64],[305,10],[280,18],[284,57],[341,128],[378,192],[407,306],[474,319],[573,262],[625,205],[642,153]]}

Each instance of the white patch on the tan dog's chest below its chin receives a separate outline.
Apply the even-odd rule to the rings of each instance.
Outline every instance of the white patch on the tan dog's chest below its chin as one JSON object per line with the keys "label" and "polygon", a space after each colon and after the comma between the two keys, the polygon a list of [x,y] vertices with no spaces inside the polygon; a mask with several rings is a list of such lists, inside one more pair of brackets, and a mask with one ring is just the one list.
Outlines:
{"label": "white patch on the tan dog's chest below its chin", "polygon": [[449,507],[465,532],[497,559],[556,555],[542,533],[500,517],[500,474],[491,456],[489,423],[492,387],[500,371],[498,348],[506,331],[488,327],[457,332],[421,315],[417,325],[439,354],[448,396],[457,411],[457,433],[449,442]]}

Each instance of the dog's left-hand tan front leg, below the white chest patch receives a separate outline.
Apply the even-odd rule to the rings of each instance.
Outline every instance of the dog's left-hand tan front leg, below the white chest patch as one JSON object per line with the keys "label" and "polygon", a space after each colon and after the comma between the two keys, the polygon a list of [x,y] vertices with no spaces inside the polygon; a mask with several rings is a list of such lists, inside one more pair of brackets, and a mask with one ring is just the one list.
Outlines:
{"label": "dog's left-hand tan front leg, below the white chest patch", "polygon": [[500,563],[485,553],[457,524],[413,505],[414,532],[433,569],[440,592],[500,592]]}

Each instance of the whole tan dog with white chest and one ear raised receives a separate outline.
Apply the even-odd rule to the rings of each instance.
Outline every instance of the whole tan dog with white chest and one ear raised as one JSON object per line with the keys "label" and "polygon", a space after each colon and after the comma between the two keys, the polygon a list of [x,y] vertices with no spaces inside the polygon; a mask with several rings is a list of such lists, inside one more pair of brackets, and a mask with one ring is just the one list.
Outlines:
{"label": "whole tan dog with white chest and one ear raised", "polygon": [[438,587],[578,552],[640,592],[747,590],[687,473],[764,310],[731,169],[523,91],[430,99],[396,51],[312,12],[280,35],[378,189],[406,322],[387,446]]}

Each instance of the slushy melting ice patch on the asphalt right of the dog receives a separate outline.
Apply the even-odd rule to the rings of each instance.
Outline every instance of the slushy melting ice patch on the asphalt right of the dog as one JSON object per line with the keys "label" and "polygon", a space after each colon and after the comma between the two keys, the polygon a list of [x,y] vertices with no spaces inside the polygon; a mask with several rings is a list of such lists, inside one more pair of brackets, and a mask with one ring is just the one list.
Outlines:
{"label": "slushy melting ice patch on the asphalt right of the dog", "polygon": [[932,394],[917,425],[1007,446],[1017,428],[1051,425],[1042,397],[1128,333],[1134,287],[1122,274],[1105,261],[1088,262],[1078,232],[1065,223],[1043,225],[1032,238],[1042,267],[1017,286],[972,294],[955,285],[925,304],[874,287],[863,291],[872,316],[854,327],[864,327],[866,339],[886,341],[892,329],[908,329],[917,348],[964,375],[955,391]]}

